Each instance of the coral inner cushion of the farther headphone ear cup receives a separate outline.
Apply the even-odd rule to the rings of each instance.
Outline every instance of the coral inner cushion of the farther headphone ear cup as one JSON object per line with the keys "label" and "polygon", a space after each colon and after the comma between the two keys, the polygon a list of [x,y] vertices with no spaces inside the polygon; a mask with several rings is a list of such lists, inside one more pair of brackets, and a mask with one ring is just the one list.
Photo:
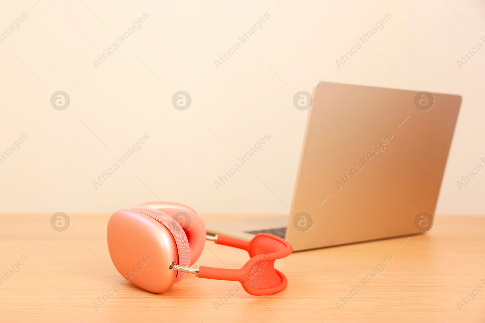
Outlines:
{"label": "coral inner cushion of the farther headphone ear cup", "polygon": [[189,210],[176,208],[162,208],[159,210],[175,219],[185,231],[189,241],[190,265],[192,266],[204,250],[206,241],[206,225],[204,221],[197,213]]}

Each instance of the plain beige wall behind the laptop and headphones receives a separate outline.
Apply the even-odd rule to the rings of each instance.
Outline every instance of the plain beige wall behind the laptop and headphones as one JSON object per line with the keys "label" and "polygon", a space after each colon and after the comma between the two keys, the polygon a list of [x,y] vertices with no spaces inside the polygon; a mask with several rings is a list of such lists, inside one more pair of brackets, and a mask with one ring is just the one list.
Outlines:
{"label": "plain beige wall behind the laptop and headphones", "polygon": [[[438,205],[451,198],[436,213],[485,214],[485,170],[456,185],[485,159],[485,48],[461,69],[456,62],[485,45],[483,1],[83,1],[1,4],[0,32],[28,17],[0,44],[0,154],[28,139],[0,165],[0,212],[111,213],[160,198],[201,213],[288,213],[307,118],[292,97],[328,76],[461,94]],[[121,44],[116,37],[145,12]],[[265,13],[263,28],[217,68]],[[338,68],[386,13],[384,29]],[[96,68],[113,42],[119,48]],[[71,99],[62,111],[50,105],[59,90]],[[171,104],[179,90],[192,97],[184,111]],[[266,133],[263,150],[217,190]],[[141,151],[95,189],[144,134]]]}

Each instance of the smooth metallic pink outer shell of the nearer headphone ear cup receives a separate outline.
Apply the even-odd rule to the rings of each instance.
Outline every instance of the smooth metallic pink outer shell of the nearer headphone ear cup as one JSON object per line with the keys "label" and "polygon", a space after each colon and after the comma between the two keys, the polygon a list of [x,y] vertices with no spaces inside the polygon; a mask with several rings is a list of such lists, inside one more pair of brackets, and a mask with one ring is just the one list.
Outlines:
{"label": "smooth metallic pink outer shell of the nearer headphone ear cup", "polygon": [[123,278],[148,292],[162,293],[176,282],[178,272],[168,268],[178,261],[172,233],[160,222],[133,210],[118,210],[107,228],[111,260]]}

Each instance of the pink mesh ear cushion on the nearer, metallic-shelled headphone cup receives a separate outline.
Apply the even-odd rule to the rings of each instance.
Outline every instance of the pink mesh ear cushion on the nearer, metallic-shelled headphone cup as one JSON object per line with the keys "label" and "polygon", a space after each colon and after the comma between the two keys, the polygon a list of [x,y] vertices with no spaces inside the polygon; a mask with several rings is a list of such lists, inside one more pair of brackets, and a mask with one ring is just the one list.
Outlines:
{"label": "pink mesh ear cushion on the nearer, metallic-shelled headphone cup", "polygon": [[[131,210],[143,213],[158,222],[160,222],[163,226],[165,226],[172,236],[174,237],[175,244],[177,245],[177,253],[178,253],[178,265],[180,266],[189,266],[190,265],[190,248],[189,242],[187,240],[187,236],[185,235],[183,229],[174,220],[171,216],[166,215],[165,213],[152,209],[146,206],[137,206],[132,208]],[[170,264],[167,263],[167,266]],[[181,271],[177,272],[177,277],[175,278],[175,282],[178,283],[185,277],[186,273]]]}

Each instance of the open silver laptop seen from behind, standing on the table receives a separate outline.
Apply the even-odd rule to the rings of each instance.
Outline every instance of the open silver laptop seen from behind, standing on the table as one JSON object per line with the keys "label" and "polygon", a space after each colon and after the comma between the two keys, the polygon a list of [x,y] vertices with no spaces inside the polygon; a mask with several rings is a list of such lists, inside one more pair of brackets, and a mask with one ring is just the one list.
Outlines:
{"label": "open silver laptop seen from behind, standing on the table", "polygon": [[290,214],[207,232],[298,251],[431,230],[461,96],[320,82],[309,99]]}

